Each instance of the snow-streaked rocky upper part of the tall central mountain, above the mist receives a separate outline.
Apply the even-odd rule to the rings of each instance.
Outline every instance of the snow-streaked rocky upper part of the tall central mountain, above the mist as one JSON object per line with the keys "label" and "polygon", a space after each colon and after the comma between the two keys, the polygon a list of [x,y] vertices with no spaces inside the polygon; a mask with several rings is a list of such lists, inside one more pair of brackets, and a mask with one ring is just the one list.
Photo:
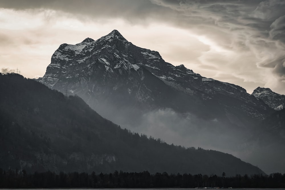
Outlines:
{"label": "snow-streaked rocky upper part of the tall central mountain, above the mist", "polygon": [[[77,94],[90,105],[119,99],[120,103],[111,100],[111,104],[144,103],[146,107],[171,107],[195,114],[199,107],[201,115],[215,113],[207,107],[220,107],[223,114],[235,109],[257,119],[264,118],[269,109],[242,87],[202,77],[184,65],[173,66],[158,52],[128,42],[117,30],[98,40],[86,38],[79,44],[60,45],[38,80]],[[184,99],[178,100],[178,95]]]}

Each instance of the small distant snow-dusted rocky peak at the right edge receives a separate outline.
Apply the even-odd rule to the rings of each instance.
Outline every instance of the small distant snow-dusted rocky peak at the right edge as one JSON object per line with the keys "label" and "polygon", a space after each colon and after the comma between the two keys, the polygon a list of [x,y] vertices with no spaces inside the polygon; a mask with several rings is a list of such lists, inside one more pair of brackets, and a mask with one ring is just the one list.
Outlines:
{"label": "small distant snow-dusted rocky peak at the right edge", "polygon": [[270,88],[257,87],[251,95],[261,99],[272,109],[282,110],[285,107],[285,95],[277,94]]}

